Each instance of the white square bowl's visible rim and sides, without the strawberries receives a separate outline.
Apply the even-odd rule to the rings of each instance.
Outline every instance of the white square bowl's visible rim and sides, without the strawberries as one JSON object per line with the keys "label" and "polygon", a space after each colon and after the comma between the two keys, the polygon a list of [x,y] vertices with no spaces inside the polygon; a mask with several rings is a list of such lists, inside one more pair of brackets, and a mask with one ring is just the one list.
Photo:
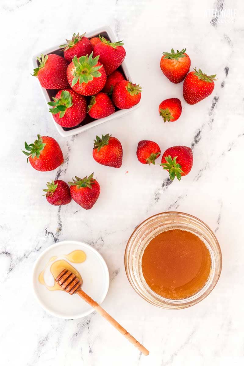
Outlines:
{"label": "white square bowl's visible rim and sides, without the strawberries", "polygon": [[[115,34],[113,33],[112,29],[108,26],[104,26],[102,28],[98,28],[94,31],[91,31],[89,33],[86,33],[86,37],[87,38],[92,38],[92,37],[96,37],[98,36],[99,34],[103,35],[104,37],[108,38],[110,41],[112,42],[116,42],[116,37],[115,37]],[[41,51],[39,52],[37,55],[33,56],[32,58],[32,61],[33,61],[33,68],[36,68],[39,66],[38,64],[38,61],[37,61],[37,56],[40,56],[41,53],[43,53],[44,55],[48,54],[48,53],[56,53],[58,55],[62,55],[62,51],[60,50],[59,46],[55,46],[55,47],[52,47],[46,51]],[[131,78],[131,75],[129,74],[129,71],[128,71],[128,68],[125,64],[125,62],[123,62],[121,64],[121,69],[123,70],[124,72],[124,75],[125,75],[125,78],[131,82],[132,81],[132,78]],[[56,93],[57,93],[57,90],[47,90],[45,88],[43,88],[41,86],[41,84],[39,83],[40,85],[40,88],[41,88],[41,91],[42,91],[42,94],[44,96],[44,99],[46,101],[46,103],[52,101],[52,96],[55,96]],[[85,122],[86,124],[83,124],[82,126],[82,122],[81,125],[79,126],[75,126],[75,127],[71,127],[71,128],[64,128],[62,126],[60,126],[59,124],[57,124],[55,122],[55,120],[53,119],[53,116],[52,116],[52,113],[49,113],[50,115],[50,118],[52,118],[57,130],[59,131],[60,135],[63,136],[63,137],[66,137],[66,136],[72,136],[72,135],[76,135],[76,134],[80,134],[81,132],[83,131],[86,131],[86,130],[89,130],[89,128],[92,128],[94,126],[98,126],[99,124],[101,123],[104,123],[106,121],[110,121],[111,119],[115,119],[115,118],[119,118],[123,115],[125,115],[126,113],[129,113],[129,112],[132,112],[134,111],[134,109],[138,108],[140,106],[140,102],[138,104],[136,104],[134,107],[132,108],[129,108],[129,109],[119,109],[117,111],[115,111],[115,113],[113,113],[112,115],[108,116],[108,117],[105,117],[105,118],[100,118],[100,119],[96,119],[96,120],[93,120],[91,122]],[[49,105],[47,104],[47,108],[50,108]]]}

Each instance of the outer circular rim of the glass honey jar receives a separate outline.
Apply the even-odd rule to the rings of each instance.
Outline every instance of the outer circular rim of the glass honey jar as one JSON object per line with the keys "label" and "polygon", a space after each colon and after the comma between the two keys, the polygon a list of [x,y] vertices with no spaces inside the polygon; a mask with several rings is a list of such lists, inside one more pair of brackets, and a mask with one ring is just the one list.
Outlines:
{"label": "outer circular rim of the glass honey jar", "polygon": [[[218,253],[219,253],[219,261],[220,261],[220,266],[219,266],[219,273],[218,273],[218,278],[217,280],[215,281],[213,287],[211,288],[211,290],[207,293],[206,296],[203,296],[202,298],[200,298],[197,302],[193,303],[193,304],[187,304],[186,306],[180,306],[180,307],[161,307],[159,305],[156,305],[156,304],[153,304],[151,303],[149,300],[145,299],[136,289],[136,287],[134,286],[134,284],[132,283],[131,281],[131,278],[128,274],[128,266],[127,266],[127,252],[128,252],[128,247],[129,247],[129,243],[131,241],[131,238],[132,236],[135,234],[136,230],[138,230],[139,227],[143,226],[143,224],[150,220],[150,219],[153,219],[153,217],[156,217],[156,216],[160,216],[160,215],[164,215],[164,214],[168,214],[168,215],[175,215],[175,214],[182,214],[184,216],[187,216],[189,218],[192,218],[192,219],[195,219],[197,221],[199,221],[201,224],[203,224],[209,231],[210,233],[213,235],[215,241],[216,241],[216,244],[217,244],[217,247],[218,247]],[[143,220],[139,225],[136,226],[136,228],[133,230],[132,234],[130,235],[129,239],[128,239],[128,242],[126,244],[126,247],[125,247],[125,252],[124,252],[124,267],[125,267],[125,273],[126,273],[126,276],[127,276],[127,279],[131,285],[131,287],[133,288],[133,290],[143,299],[143,300],[146,300],[147,302],[149,302],[151,305],[154,305],[154,306],[157,306],[157,307],[160,307],[161,309],[165,309],[165,310],[178,310],[178,309],[187,309],[188,307],[191,307],[193,305],[196,305],[198,304],[199,302],[201,302],[205,297],[207,297],[212,291],[213,289],[215,288],[215,286],[217,285],[218,283],[218,280],[219,280],[219,277],[221,275],[221,272],[222,272],[222,262],[223,262],[223,258],[222,258],[222,251],[221,251],[221,247],[219,245],[219,242],[218,242],[218,239],[216,238],[213,230],[209,227],[209,225],[207,225],[206,223],[204,223],[204,221],[202,221],[201,219],[199,219],[198,217],[194,216],[194,215],[191,215],[189,213],[186,213],[186,212],[181,212],[181,211],[163,211],[163,212],[159,212],[157,214],[154,214],[152,216],[149,216],[147,217],[147,219]]]}

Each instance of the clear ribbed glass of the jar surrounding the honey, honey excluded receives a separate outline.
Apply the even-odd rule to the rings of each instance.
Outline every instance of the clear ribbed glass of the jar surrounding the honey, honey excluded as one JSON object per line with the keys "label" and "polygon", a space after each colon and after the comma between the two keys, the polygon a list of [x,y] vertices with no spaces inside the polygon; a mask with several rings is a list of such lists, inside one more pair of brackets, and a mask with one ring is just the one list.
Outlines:
{"label": "clear ribbed glass of the jar surrounding the honey, honey excluded", "polygon": [[[181,229],[197,235],[209,250],[211,269],[204,287],[196,294],[180,300],[164,298],[147,285],[142,274],[142,255],[149,242],[163,231]],[[197,219],[183,212],[162,212],[143,221],[132,233],[125,248],[125,272],[134,290],[149,303],[164,309],[183,309],[203,300],[216,285],[222,268],[221,249],[213,231]]]}

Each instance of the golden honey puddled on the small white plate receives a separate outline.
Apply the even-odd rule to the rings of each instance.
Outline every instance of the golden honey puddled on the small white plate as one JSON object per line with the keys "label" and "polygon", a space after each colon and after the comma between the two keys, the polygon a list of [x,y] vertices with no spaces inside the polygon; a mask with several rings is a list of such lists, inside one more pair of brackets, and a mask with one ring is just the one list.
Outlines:
{"label": "golden honey puddled on the small white plate", "polygon": [[[72,263],[82,263],[86,260],[86,253],[83,250],[74,250],[69,254],[60,255],[60,257],[65,257]],[[44,285],[49,291],[62,290],[59,284],[56,282],[53,286],[48,286],[44,281],[45,270],[51,262],[53,262],[53,264],[50,266],[50,272],[52,273],[54,280],[59,275],[59,273],[66,268],[73,272],[74,275],[82,282],[82,278],[77,269],[75,269],[69,262],[65,261],[65,259],[59,259],[58,261],[55,261],[57,258],[57,256],[50,258],[44,270],[41,271],[38,280],[42,285]]]}

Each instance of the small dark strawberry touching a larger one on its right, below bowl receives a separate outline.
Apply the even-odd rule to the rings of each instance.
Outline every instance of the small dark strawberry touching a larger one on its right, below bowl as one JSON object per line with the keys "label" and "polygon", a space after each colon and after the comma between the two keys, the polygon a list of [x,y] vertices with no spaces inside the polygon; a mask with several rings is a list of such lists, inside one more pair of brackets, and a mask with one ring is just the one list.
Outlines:
{"label": "small dark strawberry touching a larger one on its right, below bowl", "polygon": [[47,189],[43,189],[46,200],[54,206],[67,205],[71,201],[70,187],[63,180],[53,180],[46,184]]}

